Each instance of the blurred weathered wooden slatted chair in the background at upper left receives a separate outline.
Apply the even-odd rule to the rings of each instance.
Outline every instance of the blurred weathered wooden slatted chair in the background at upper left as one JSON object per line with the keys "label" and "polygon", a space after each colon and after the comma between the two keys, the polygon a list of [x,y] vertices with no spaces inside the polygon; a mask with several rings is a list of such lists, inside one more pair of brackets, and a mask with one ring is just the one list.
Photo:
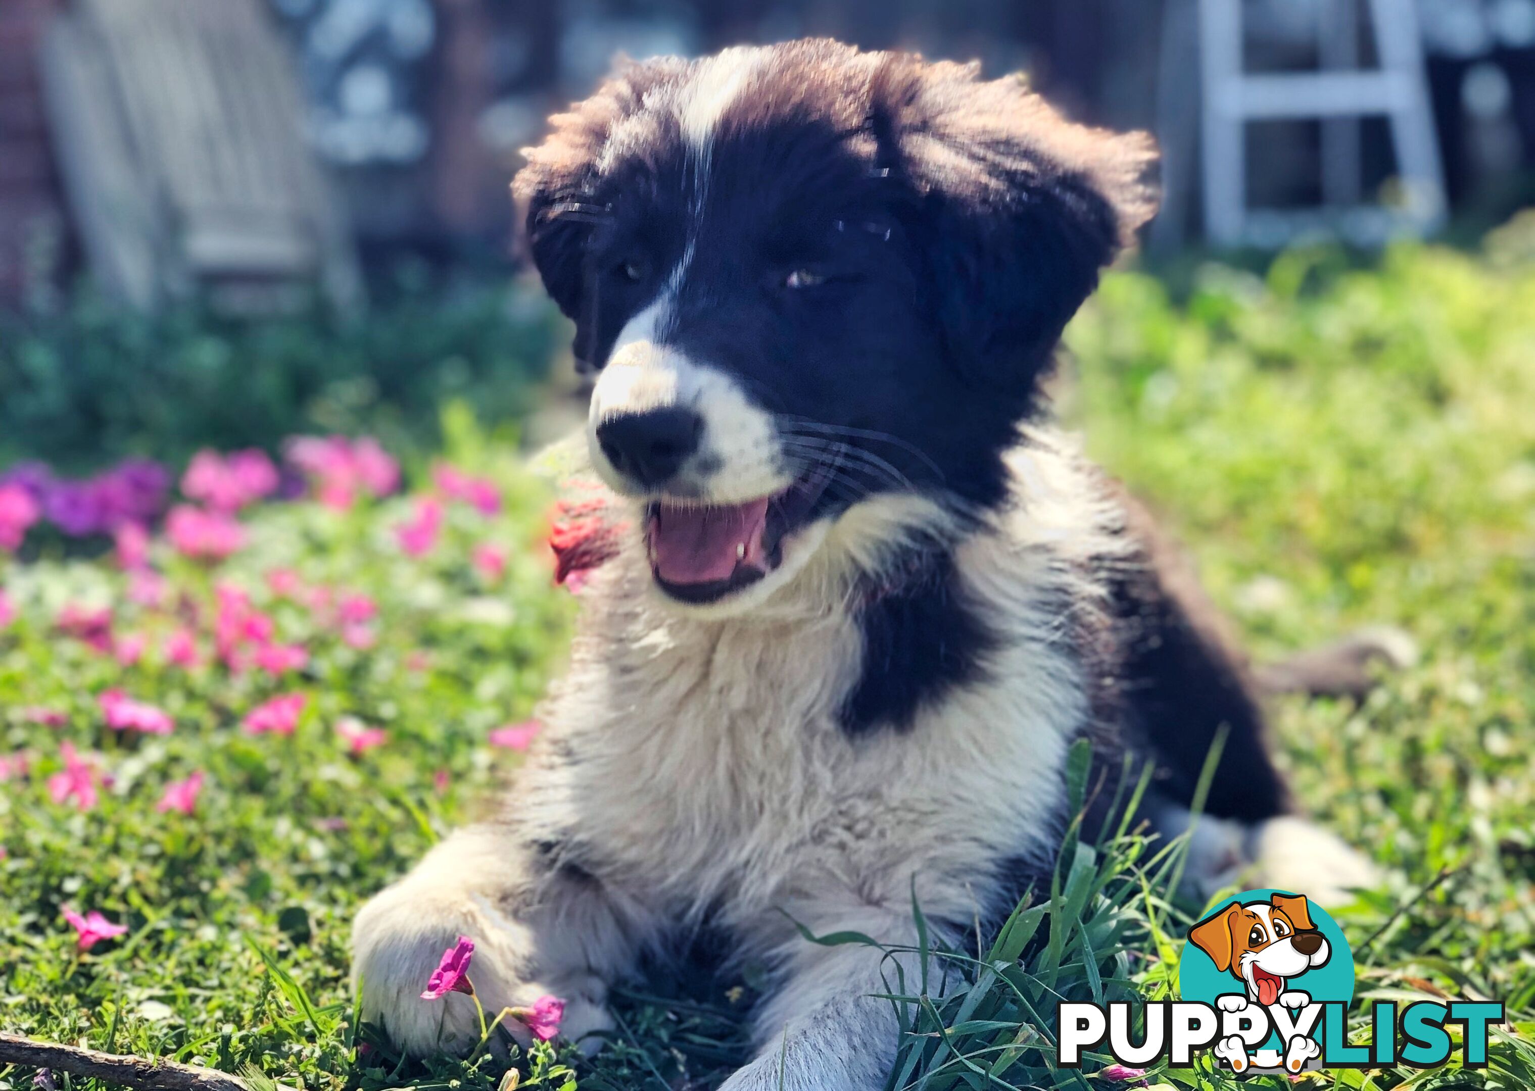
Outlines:
{"label": "blurred weathered wooden slatted chair in the background at upper left", "polygon": [[77,0],[49,28],[43,77],[72,215],[111,295],[264,311],[318,285],[359,301],[350,232],[259,0]]}

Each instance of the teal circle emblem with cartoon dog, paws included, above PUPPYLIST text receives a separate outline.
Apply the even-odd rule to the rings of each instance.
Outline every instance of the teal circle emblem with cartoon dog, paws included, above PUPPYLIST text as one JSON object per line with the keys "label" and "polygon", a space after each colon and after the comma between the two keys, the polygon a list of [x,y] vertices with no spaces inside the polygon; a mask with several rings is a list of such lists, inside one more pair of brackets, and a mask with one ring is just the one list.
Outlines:
{"label": "teal circle emblem with cartoon dog, paws included, above PUPPYLIST text", "polygon": [[[1243,890],[1217,902],[1188,930],[1177,981],[1182,999],[1234,1017],[1259,1007],[1296,1019],[1312,1005],[1342,1004],[1346,1010],[1352,1004],[1354,953],[1337,921],[1305,895]],[[1269,1025],[1262,1016],[1256,1022]],[[1299,1036],[1285,1037],[1277,1028],[1259,1042],[1231,1034],[1214,1051],[1237,1073],[1249,1066],[1297,1073],[1317,1065],[1329,1030],[1315,1020]]]}

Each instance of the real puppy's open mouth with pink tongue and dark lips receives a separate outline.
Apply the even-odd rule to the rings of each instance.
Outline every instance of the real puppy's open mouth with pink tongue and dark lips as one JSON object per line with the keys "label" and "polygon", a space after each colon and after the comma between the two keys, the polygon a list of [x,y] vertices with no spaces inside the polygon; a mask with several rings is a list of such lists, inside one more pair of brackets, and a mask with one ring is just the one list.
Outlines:
{"label": "real puppy's open mouth with pink tongue and dark lips", "polygon": [[757,583],[783,563],[784,540],[810,522],[830,479],[830,468],[817,468],[744,503],[651,502],[645,546],[655,583],[685,603],[718,602]]}

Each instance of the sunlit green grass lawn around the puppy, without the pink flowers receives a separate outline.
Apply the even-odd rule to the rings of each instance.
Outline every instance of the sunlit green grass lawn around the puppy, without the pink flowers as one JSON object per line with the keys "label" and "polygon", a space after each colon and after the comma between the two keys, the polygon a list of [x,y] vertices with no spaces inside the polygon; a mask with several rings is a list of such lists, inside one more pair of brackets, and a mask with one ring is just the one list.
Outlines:
{"label": "sunlit green grass lawn around the puppy, without the pink flowers", "polygon": [[[1179,299],[1117,273],[1068,335],[1068,420],[1183,536],[1259,657],[1377,621],[1423,646],[1421,663],[1362,707],[1280,704],[1282,760],[1305,804],[1389,872],[1371,898],[1329,907],[1354,941],[1360,996],[1494,997],[1515,1031],[1495,1036],[1484,1071],[1340,1073],[1312,1086],[1535,1085],[1535,261],[1524,250],[1494,261],[1400,249],[1369,269],[1296,253],[1263,278],[1211,265]],[[453,457],[487,460],[465,430],[448,431]],[[0,1028],[253,1066],[316,1091],[496,1086],[488,1057],[396,1063],[355,1027],[345,981],[358,904],[471,818],[516,764],[485,735],[527,715],[563,651],[571,602],[548,586],[539,545],[548,497],[513,462],[494,474],[505,513],[451,508],[425,560],[401,557],[391,534],[407,500],[345,516],[266,508],[247,520],[250,546],[216,574],[166,557],[204,617],[212,583],[233,580],[272,608],[284,638],[310,646],[307,672],[282,683],[187,674],[154,654],[124,669],[61,638],[51,620],[72,600],[118,603],[118,629],[152,634],[152,648],[173,625],[124,603],[109,565],[3,572],[20,615],[0,631],[0,755],[34,761],[0,784]],[[482,540],[510,548],[502,582],[468,563]],[[352,649],[307,609],[269,603],[262,577],[279,566],[373,595],[376,646]],[[114,684],[164,706],[175,733],[106,730],[95,695]],[[239,729],[253,703],[295,687],[310,706],[292,738]],[[69,723],[26,723],[20,710],[35,704]],[[341,715],[385,727],[388,741],[350,756],[333,733]],[[115,775],[89,813],[46,793],[66,738],[100,749]],[[196,815],[157,813],[166,781],[192,769],[209,776]],[[1002,967],[941,953],[964,985],[930,1005],[918,982],[892,982],[913,1028],[903,1080],[981,1086],[978,1068],[1004,1059],[995,1071],[1013,1086],[1099,1086],[1051,1074],[1045,1008],[1055,993],[1164,996],[1180,913],[1199,907],[1157,896],[1176,862],[1133,832],[1096,847],[1073,838],[1064,859],[1056,888],[984,953]],[[129,933],[77,956],[63,904]],[[712,1086],[740,1056],[749,997],[751,979],[623,990],[619,1031],[577,1066],[580,1091],[682,1086],[683,1074]],[[517,1057],[520,1071],[530,1063],[546,1073],[553,1060]],[[29,1079],[0,1070],[15,1088]],[[1234,1086],[1208,1070],[1151,1079]]]}

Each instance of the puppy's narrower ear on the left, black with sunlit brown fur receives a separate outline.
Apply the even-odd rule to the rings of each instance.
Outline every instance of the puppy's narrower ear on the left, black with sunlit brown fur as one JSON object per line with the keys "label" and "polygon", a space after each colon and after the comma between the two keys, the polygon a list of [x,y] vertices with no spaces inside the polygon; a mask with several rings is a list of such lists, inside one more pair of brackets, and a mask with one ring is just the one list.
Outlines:
{"label": "puppy's narrower ear on the left, black with sunlit brown fur", "polygon": [[543,287],[568,318],[580,321],[586,241],[608,218],[596,199],[603,150],[620,126],[639,117],[645,94],[685,68],[677,57],[620,60],[589,98],[550,118],[542,144],[523,149],[527,164],[511,183],[522,241]]}

